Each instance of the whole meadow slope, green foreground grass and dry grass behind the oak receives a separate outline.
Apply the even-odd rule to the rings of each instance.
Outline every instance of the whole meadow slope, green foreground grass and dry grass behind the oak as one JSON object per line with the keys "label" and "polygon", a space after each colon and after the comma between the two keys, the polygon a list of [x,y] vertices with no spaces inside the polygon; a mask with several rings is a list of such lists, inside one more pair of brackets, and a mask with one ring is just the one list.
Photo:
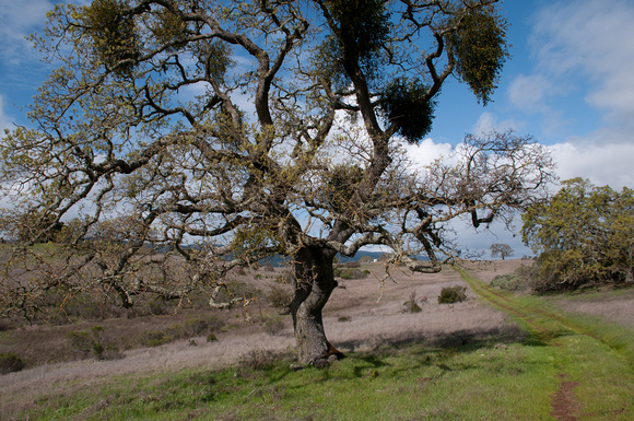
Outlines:
{"label": "whole meadow slope, green foreground grass and dry grass behind the oak", "polygon": [[[381,267],[364,266],[371,276],[342,281],[327,305],[327,334],[349,358],[326,370],[291,369],[290,317],[262,301],[249,309],[248,323],[244,309],[213,312],[225,323],[215,341],[196,337],[131,348],[113,360],[49,363],[0,376],[0,419],[632,419],[632,331],[612,323],[634,318],[632,292],[538,299],[488,286],[521,264],[467,265],[469,283],[451,268],[425,276],[396,271],[398,283],[383,289]],[[250,281],[263,291],[271,286],[261,278]],[[438,304],[448,285],[470,285],[468,300]],[[412,299],[421,312],[406,312]],[[595,316],[560,312],[586,308],[577,303],[591,304],[586,313]],[[108,335],[134,332],[143,323],[174,325],[187,317],[192,315],[181,312],[101,326]],[[33,331],[62,340],[55,329],[68,327],[2,332],[0,352]],[[35,349],[44,342],[30,340]]]}

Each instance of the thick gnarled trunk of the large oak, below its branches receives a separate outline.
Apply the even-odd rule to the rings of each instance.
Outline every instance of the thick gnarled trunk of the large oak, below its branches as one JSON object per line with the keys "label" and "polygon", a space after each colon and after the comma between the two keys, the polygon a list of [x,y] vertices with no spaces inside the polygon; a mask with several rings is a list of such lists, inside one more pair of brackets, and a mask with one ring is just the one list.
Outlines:
{"label": "thick gnarled trunk of the large oak, below its branches", "polygon": [[294,256],[291,303],[297,360],[300,364],[325,366],[329,359],[343,358],[326,339],[321,309],[337,286],[332,271],[334,253],[321,247],[304,247]]}

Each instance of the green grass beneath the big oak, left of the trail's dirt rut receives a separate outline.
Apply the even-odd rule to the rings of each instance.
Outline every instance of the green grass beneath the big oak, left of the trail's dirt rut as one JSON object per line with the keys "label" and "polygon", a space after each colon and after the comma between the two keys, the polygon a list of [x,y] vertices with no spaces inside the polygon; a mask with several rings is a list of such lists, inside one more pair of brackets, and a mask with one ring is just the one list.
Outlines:
{"label": "green grass beneath the big oak, left of the trail's dirt rut", "polygon": [[290,369],[291,361],[261,370],[111,378],[43,399],[28,418],[539,420],[549,419],[557,386],[549,356],[520,343],[455,350],[415,344],[300,372]]}

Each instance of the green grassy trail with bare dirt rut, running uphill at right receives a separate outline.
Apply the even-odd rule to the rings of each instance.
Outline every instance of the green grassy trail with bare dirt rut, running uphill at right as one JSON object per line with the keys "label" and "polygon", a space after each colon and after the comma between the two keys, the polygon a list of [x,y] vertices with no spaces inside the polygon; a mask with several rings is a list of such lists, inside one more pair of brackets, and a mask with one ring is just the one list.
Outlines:
{"label": "green grassy trail with bare dirt rut, running uphill at right", "polygon": [[[563,314],[535,296],[491,288],[456,268],[471,289],[523,325],[530,342],[548,347],[560,372],[560,389],[571,389],[568,411],[578,419],[634,419],[634,337],[597,317]],[[571,387],[572,386],[572,387]],[[553,408],[561,402],[553,396]]]}

